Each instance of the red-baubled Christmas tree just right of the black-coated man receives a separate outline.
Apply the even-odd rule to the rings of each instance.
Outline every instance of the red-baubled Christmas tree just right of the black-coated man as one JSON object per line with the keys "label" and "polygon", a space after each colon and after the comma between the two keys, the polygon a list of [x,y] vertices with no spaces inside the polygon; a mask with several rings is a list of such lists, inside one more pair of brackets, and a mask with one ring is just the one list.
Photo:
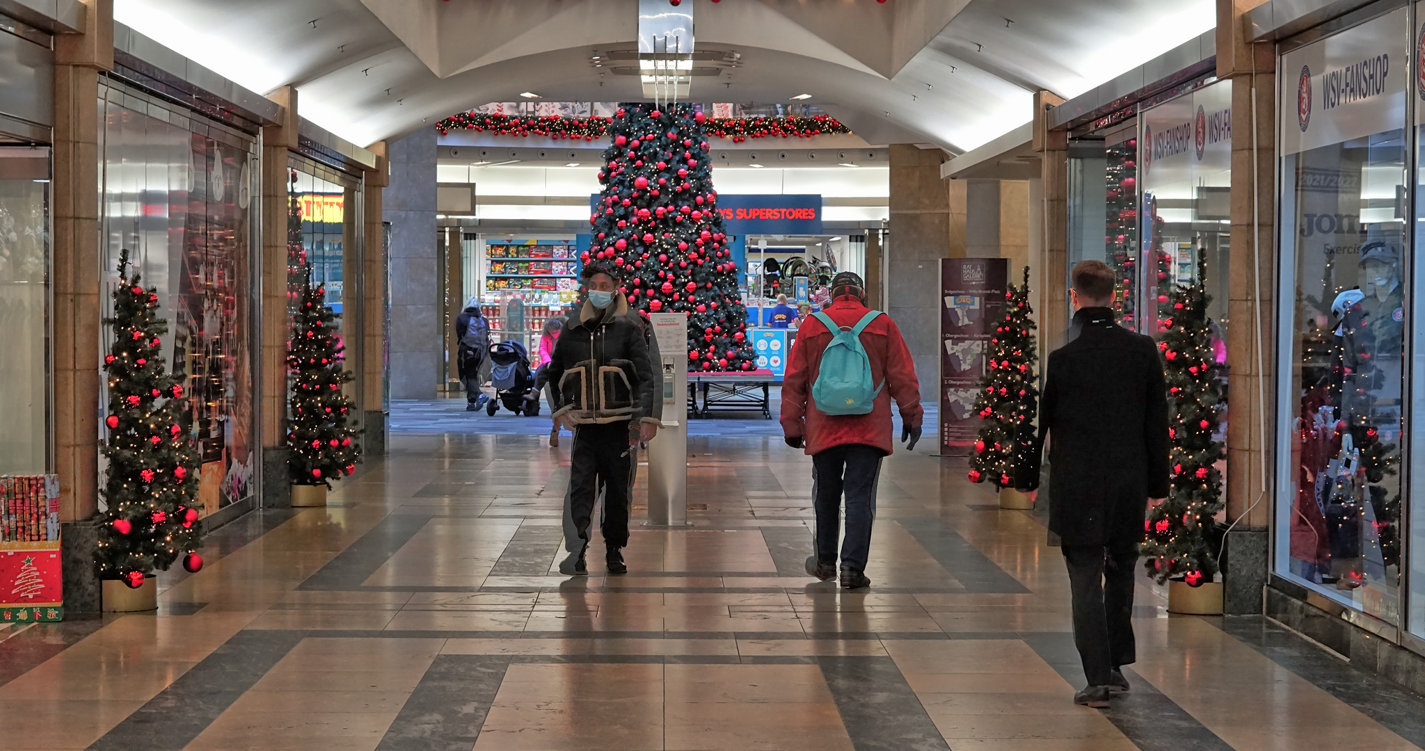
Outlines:
{"label": "red-baubled Christmas tree just right of the black-coated man", "polygon": [[1168,496],[1149,510],[1143,542],[1144,566],[1159,583],[1181,576],[1200,586],[1217,576],[1220,536],[1214,516],[1223,510],[1223,475],[1217,462],[1227,455],[1217,440],[1223,405],[1223,365],[1213,348],[1211,296],[1203,284],[1207,262],[1198,254],[1197,281],[1173,294],[1173,316],[1161,321],[1164,376],[1168,390],[1171,479]]}

